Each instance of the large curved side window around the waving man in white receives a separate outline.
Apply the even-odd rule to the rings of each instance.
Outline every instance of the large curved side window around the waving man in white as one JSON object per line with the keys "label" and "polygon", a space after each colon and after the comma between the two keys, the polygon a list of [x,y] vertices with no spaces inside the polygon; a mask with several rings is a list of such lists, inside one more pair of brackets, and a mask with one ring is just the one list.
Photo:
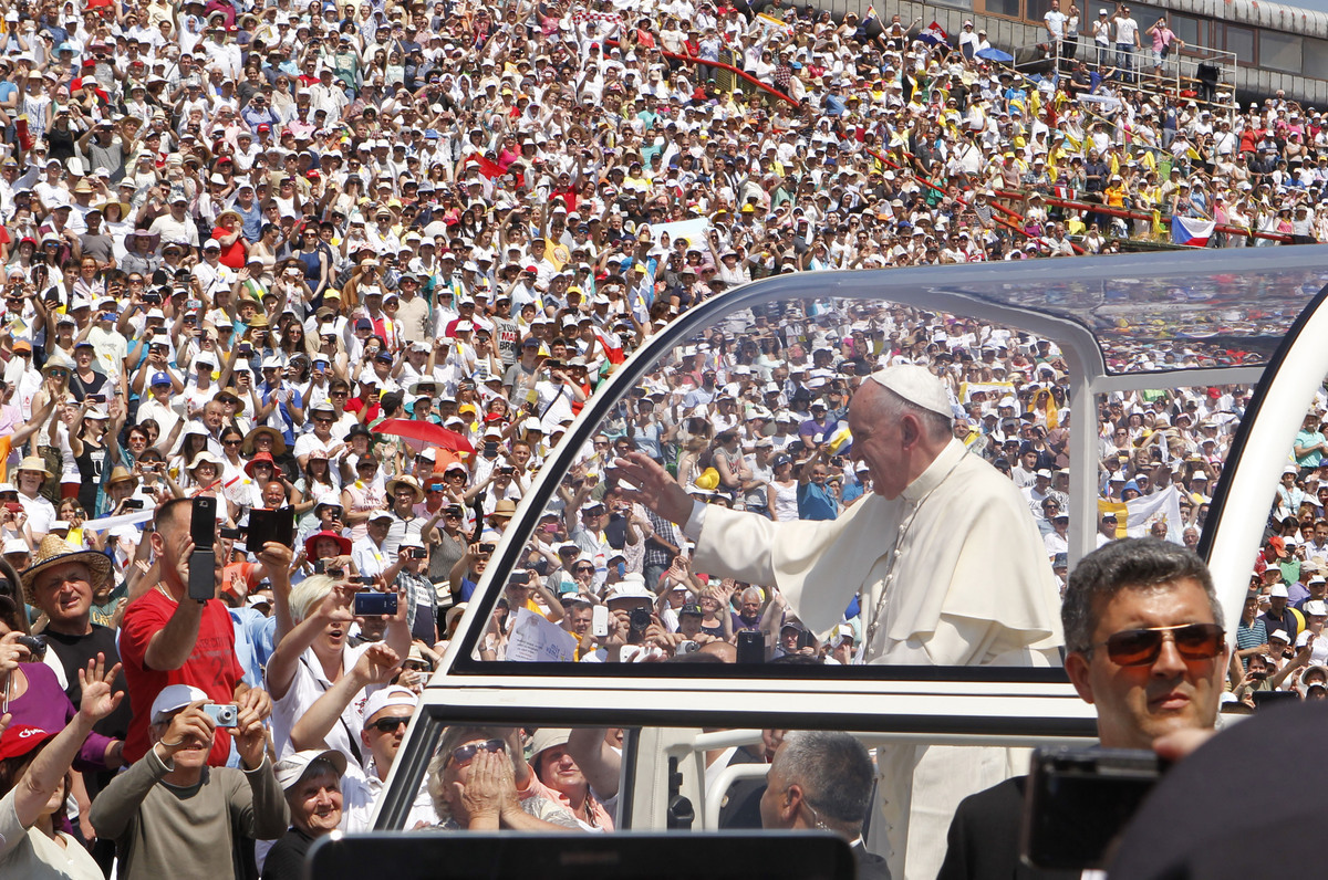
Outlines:
{"label": "large curved side window around the waving man in white", "polygon": [[[957,415],[952,427],[939,415],[927,421],[927,430],[935,431],[927,441],[931,451],[915,453],[916,473],[907,478],[902,462],[872,457],[870,446],[855,447],[849,431],[850,400],[880,393],[865,377],[895,364],[931,369],[939,381],[914,381],[919,389],[931,382]],[[1016,633],[1019,624],[1008,638],[1041,657],[1033,665],[1054,665],[1050,633],[1058,628],[1058,599],[1049,563],[1066,550],[1068,520],[1060,528],[1054,522],[1057,514],[1069,515],[1066,370],[1049,340],[887,300],[784,300],[730,313],[680,340],[598,425],[527,539],[523,561],[509,580],[502,625],[486,636],[479,656],[663,660],[720,641],[728,645],[725,653],[753,650],[757,660],[785,653],[823,658],[847,637],[869,660],[985,664],[996,654],[960,661],[939,649],[908,649],[903,642],[914,630],[902,629],[932,632],[938,612],[922,612],[931,615],[926,621],[910,620],[908,593],[900,591],[919,589],[935,576],[932,589],[951,591],[951,601],[963,603],[964,579],[956,572],[973,563],[981,540],[967,530],[993,528],[995,543],[981,552],[983,569],[1004,571],[1024,596],[1020,601],[1040,609],[1035,625]],[[862,411],[876,413],[857,425],[863,443],[895,426],[894,413]],[[618,467],[629,451],[663,465],[693,502],[712,506],[700,547],[680,528],[687,515],[669,522],[633,503],[632,475]],[[927,467],[919,463],[923,458],[936,463],[915,484],[935,486],[926,491],[927,499],[936,492],[936,502],[920,502],[915,522],[912,507],[874,495],[872,477],[902,479],[880,488],[895,498]],[[681,504],[683,514],[691,514],[689,503]],[[971,522],[969,506],[984,504],[1003,511],[999,528],[995,520],[976,523],[939,539],[935,530]],[[712,527],[712,518],[724,520],[713,506],[745,514],[737,518],[741,523]],[[847,516],[854,520],[842,539],[818,538],[806,528],[806,520]],[[869,531],[854,531],[865,522],[872,523]],[[890,547],[878,530],[902,534],[899,577],[911,585],[886,589],[882,597],[855,596],[858,585],[871,591],[895,583]],[[744,540],[753,542],[750,556],[737,550]],[[964,555],[952,553],[960,544],[968,548]],[[813,546],[821,551],[805,560],[788,552]],[[935,561],[922,564],[924,557]],[[599,634],[596,615],[603,617]],[[890,621],[898,623],[887,632]],[[1036,632],[1038,625],[1046,629]],[[923,637],[920,644],[931,642]],[[956,660],[938,660],[942,656]]]}

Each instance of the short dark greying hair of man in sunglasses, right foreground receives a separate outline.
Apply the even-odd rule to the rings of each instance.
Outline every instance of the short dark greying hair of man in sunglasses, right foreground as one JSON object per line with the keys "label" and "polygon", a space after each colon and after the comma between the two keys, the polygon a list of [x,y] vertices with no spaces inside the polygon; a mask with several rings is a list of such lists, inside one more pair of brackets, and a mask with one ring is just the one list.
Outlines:
{"label": "short dark greying hair of man in sunglasses, right foreground", "polygon": [[1065,588],[1061,604],[1065,649],[1092,653],[1097,615],[1122,589],[1150,591],[1186,577],[1203,587],[1212,620],[1222,624],[1212,575],[1194,551],[1158,538],[1125,538],[1098,547],[1080,560]]}

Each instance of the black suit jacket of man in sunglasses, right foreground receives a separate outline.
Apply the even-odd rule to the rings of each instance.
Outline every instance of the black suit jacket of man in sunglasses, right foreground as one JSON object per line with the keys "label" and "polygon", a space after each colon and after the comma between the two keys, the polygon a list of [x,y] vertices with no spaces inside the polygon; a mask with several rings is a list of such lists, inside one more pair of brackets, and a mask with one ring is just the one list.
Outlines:
{"label": "black suit jacket of man in sunglasses, right foreground", "polygon": [[1076,880],[1072,871],[1040,871],[1019,860],[1028,776],[1015,776],[959,803],[936,880]]}

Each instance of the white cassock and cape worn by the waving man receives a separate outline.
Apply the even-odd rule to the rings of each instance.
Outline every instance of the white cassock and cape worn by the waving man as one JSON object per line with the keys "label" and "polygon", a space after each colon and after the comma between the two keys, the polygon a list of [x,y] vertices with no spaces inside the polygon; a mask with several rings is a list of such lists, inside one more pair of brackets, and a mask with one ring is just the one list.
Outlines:
{"label": "white cassock and cape worn by the waving man", "polygon": [[[1015,484],[950,445],[896,499],[826,522],[697,506],[693,569],[777,585],[825,633],[861,591],[866,662],[1052,666],[1065,642],[1042,539]],[[1024,770],[1024,750],[888,746],[869,847],[895,877],[936,876],[959,802]],[[902,844],[907,840],[907,863]]]}

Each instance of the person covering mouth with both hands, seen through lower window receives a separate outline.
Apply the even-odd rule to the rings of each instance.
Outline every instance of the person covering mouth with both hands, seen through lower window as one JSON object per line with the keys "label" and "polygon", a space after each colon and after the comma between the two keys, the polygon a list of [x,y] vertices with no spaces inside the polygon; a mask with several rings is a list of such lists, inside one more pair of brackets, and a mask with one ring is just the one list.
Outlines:
{"label": "person covering mouth with both hands, seen through lower window", "polygon": [[[518,795],[530,765],[513,727],[448,727],[429,762],[429,795],[437,828],[546,831],[582,828],[566,807],[531,792]],[[529,786],[527,786],[529,788]]]}

